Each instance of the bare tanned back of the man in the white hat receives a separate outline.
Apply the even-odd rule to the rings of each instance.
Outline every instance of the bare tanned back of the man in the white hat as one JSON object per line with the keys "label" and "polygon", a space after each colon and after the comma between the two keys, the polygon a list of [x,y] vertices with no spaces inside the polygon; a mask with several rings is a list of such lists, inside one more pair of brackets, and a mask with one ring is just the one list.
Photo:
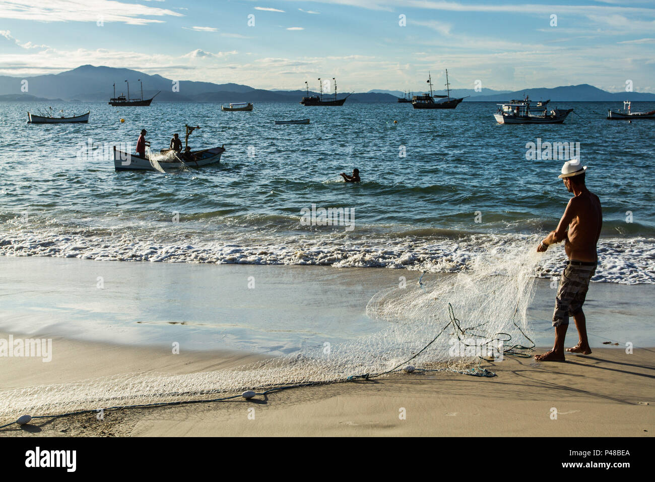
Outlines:
{"label": "bare tanned back of the man in the white hat", "polygon": [[596,244],[603,225],[603,212],[598,196],[589,190],[571,199],[571,222],[564,245],[570,260],[596,261]]}

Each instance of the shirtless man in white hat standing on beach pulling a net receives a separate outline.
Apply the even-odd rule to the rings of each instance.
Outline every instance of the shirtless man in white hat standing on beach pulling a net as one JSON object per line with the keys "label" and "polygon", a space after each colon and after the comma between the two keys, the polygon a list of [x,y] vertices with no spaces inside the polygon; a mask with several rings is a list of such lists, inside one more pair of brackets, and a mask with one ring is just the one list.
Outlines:
{"label": "shirtless man in white hat standing on beach pulling a net", "polygon": [[569,316],[575,320],[580,339],[576,346],[567,348],[567,351],[583,355],[591,353],[582,304],[598,264],[596,245],[601,235],[603,212],[598,196],[584,185],[586,171],[587,167],[580,166],[577,159],[564,163],[559,178],[564,180],[564,185],[574,197],[569,200],[557,229],[546,236],[536,249],[544,252],[549,245],[565,240],[564,249],[569,256],[555,298],[555,345],[542,355],[534,355],[536,361],[564,361],[564,338],[569,327]]}

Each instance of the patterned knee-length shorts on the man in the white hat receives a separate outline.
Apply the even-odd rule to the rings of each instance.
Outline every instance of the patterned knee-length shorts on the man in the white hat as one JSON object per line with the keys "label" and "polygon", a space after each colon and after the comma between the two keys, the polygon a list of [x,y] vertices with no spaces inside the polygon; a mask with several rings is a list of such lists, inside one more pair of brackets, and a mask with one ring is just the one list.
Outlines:
{"label": "patterned knee-length shorts on the man in the white hat", "polygon": [[589,281],[596,272],[598,263],[580,264],[580,261],[567,261],[562,278],[559,280],[555,311],[553,312],[553,327],[568,325],[569,317],[582,311],[584,299],[589,289]]}

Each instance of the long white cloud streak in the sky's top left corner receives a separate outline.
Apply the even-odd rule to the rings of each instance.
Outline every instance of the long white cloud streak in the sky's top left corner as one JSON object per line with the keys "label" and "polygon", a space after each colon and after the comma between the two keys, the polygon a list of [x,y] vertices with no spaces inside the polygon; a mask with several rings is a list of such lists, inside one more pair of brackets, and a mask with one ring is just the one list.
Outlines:
{"label": "long white cloud streak in the sky's top left corner", "polygon": [[35,22],[122,22],[130,25],[163,23],[149,16],[183,16],[168,9],[117,0],[0,0],[0,18]]}

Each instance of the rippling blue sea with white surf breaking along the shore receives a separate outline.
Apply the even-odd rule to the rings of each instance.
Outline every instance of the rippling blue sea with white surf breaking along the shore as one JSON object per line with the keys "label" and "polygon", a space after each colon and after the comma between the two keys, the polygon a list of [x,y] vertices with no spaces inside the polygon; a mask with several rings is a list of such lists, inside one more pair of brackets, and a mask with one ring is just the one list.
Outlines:
{"label": "rippling blue sea with white surf breaking along the shore", "polygon": [[[655,108],[643,104],[633,110]],[[563,125],[498,125],[488,102],[448,111],[257,103],[250,113],[67,103],[52,107],[89,110],[88,124],[28,125],[27,111],[43,106],[0,103],[0,254],[466,270],[481,249],[536,245],[557,226],[571,196],[557,178],[567,158],[527,154],[529,143],[566,142],[579,143],[603,204],[593,281],[655,283],[655,123],[607,121],[614,103],[551,106],[575,111]],[[274,125],[307,117],[310,125]],[[145,128],[158,151],[185,124],[201,127],[194,150],[225,145],[219,164],[114,171],[111,146],[134,151]],[[362,183],[341,182],[354,167]],[[303,224],[312,206],[349,216]],[[558,273],[564,259],[563,247],[549,249],[538,275]]]}

